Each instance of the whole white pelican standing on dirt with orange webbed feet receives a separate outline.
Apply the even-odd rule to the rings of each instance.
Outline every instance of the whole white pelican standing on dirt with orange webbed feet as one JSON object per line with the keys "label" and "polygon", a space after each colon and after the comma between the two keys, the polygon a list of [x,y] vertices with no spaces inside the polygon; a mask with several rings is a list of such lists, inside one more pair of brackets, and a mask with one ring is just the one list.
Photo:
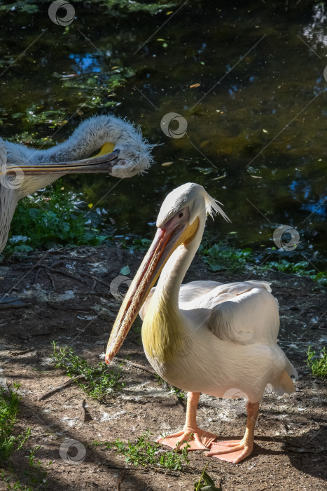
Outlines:
{"label": "whole white pelican standing on dirt with orange webbed feet", "polygon": [[[199,184],[183,184],[162,203],[157,233],[130,285],[106,349],[110,363],[141,309],[144,351],[154,370],[188,391],[182,431],[161,438],[172,448],[190,440],[190,450],[240,462],[253,449],[259,402],[267,384],[277,394],[295,391],[293,365],[277,344],[277,300],[265,281],[181,285],[200,245],[207,213],[228,217]],[[151,287],[160,275],[156,288]],[[196,422],[200,393],[247,399],[242,440],[216,441]],[[183,445],[182,445],[183,443]]]}

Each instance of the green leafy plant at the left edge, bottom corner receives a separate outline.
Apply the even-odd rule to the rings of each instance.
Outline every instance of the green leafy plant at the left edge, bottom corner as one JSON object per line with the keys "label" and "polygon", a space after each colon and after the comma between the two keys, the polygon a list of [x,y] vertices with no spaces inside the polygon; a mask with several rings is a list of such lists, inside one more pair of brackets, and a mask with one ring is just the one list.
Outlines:
{"label": "green leafy plant at the left edge, bottom corner", "polygon": [[28,428],[25,433],[13,436],[13,426],[17,420],[21,397],[17,394],[20,384],[13,384],[13,389],[5,391],[0,387],[0,462],[5,461],[13,452],[22,448],[31,434]]}

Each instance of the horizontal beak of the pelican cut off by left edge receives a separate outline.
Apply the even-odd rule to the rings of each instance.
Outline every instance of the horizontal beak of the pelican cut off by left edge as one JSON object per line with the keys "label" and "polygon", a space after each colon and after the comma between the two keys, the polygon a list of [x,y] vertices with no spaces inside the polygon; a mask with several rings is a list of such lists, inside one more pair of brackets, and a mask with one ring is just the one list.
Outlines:
{"label": "horizontal beak of the pelican cut off by left edge", "polygon": [[105,143],[99,154],[83,160],[37,163],[22,167],[7,166],[6,175],[16,174],[18,170],[23,170],[25,175],[110,173],[113,166],[120,161],[119,150],[113,152],[114,146],[113,143]]}

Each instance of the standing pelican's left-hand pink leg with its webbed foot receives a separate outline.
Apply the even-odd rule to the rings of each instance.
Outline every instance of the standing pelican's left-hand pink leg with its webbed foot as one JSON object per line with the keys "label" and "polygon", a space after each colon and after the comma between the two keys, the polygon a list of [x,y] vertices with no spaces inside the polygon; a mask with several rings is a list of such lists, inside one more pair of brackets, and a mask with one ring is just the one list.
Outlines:
{"label": "standing pelican's left-hand pink leg with its webbed foot", "polygon": [[201,430],[197,426],[196,414],[197,403],[200,399],[200,392],[188,392],[188,404],[186,408],[186,422],[182,431],[173,433],[172,435],[159,438],[158,443],[168,445],[172,448],[184,448],[186,442],[190,445],[188,450],[208,450],[211,443],[216,440],[217,436],[214,433]]}

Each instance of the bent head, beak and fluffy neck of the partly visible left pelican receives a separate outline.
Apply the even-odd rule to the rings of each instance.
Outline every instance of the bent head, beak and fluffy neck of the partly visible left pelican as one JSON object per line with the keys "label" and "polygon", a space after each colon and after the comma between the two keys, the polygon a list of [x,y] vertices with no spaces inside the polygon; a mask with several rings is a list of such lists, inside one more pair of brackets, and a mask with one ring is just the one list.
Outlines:
{"label": "bent head, beak and fluffy neck of the partly visible left pelican", "polygon": [[109,173],[125,178],[144,172],[153,161],[153,145],[148,144],[141,130],[116,116],[89,118],[66,142],[46,150],[5,143],[7,166],[0,175],[8,176],[50,175],[55,180],[69,173]]}

